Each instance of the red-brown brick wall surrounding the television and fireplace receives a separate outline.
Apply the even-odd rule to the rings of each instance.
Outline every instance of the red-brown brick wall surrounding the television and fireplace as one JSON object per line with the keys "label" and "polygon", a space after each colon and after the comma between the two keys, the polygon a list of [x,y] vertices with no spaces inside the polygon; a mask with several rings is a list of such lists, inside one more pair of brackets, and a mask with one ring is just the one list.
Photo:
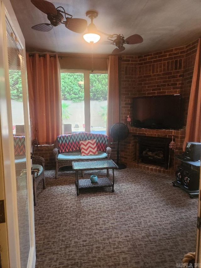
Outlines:
{"label": "red-brown brick wall surrounding the television and fireplace", "polygon": [[[122,56],[120,111],[122,123],[127,123],[128,114],[132,120],[133,97],[181,94],[181,113],[183,126],[185,126],[197,45],[198,40],[187,46],[147,55]],[[129,137],[120,144],[120,159],[127,166],[136,165],[137,135],[169,138],[172,137],[172,131],[131,128]],[[185,128],[175,131],[176,154],[182,153],[184,137]]]}

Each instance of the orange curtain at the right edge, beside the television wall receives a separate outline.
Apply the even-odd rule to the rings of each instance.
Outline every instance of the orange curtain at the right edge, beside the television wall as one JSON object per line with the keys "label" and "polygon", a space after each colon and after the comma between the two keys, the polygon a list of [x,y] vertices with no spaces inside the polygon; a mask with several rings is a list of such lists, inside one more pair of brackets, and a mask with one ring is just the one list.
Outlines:
{"label": "orange curtain at the right edge, beside the television wall", "polygon": [[183,143],[185,151],[188,141],[201,141],[201,42],[198,40],[198,49],[195,58],[191,93],[188,104],[186,136]]}

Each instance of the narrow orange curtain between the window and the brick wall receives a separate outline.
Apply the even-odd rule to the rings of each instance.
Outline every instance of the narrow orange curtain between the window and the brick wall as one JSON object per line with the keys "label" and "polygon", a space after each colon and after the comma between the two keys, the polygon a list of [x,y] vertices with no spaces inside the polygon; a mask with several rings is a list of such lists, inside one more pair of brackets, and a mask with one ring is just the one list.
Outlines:
{"label": "narrow orange curtain between the window and the brick wall", "polygon": [[106,135],[111,126],[119,122],[118,56],[109,56]]}

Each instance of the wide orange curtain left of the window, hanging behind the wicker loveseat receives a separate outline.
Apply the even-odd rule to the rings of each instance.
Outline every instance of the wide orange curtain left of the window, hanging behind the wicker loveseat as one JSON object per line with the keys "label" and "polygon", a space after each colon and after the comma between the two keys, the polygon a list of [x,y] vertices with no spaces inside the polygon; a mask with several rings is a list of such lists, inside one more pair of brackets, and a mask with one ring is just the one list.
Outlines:
{"label": "wide orange curtain left of the window, hanging behind the wicker loveseat", "polygon": [[27,77],[33,139],[51,145],[62,133],[58,56],[27,53]]}

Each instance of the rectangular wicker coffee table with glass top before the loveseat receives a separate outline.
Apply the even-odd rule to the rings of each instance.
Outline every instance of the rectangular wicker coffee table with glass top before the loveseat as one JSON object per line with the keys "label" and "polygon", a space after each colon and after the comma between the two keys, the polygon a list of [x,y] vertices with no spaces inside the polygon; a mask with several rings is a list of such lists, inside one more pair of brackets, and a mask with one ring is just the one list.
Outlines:
{"label": "rectangular wicker coffee table with glass top before the loveseat", "polygon": [[[94,188],[94,187],[112,187],[112,192],[114,192],[114,169],[118,166],[111,159],[109,160],[97,160],[97,161],[79,161],[72,162],[73,170],[75,171],[75,185],[77,186],[77,195],[79,195],[79,189],[84,188]],[[90,179],[79,179],[79,171],[85,170],[107,170],[106,178],[98,178],[98,181],[91,183]],[[110,181],[108,170],[112,169],[113,182]]]}

